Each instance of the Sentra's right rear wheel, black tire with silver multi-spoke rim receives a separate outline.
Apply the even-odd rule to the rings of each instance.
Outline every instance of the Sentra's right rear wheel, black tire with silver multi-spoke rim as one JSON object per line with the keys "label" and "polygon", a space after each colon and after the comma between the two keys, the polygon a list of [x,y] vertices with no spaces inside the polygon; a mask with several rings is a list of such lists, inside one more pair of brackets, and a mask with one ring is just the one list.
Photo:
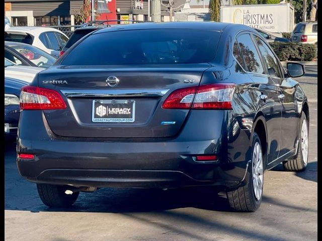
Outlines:
{"label": "Sentra's right rear wheel, black tire with silver multi-spoke rim", "polygon": [[229,206],[240,212],[255,212],[261,205],[264,184],[263,153],[259,136],[254,133],[252,145],[252,172],[247,185],[227,190]]}

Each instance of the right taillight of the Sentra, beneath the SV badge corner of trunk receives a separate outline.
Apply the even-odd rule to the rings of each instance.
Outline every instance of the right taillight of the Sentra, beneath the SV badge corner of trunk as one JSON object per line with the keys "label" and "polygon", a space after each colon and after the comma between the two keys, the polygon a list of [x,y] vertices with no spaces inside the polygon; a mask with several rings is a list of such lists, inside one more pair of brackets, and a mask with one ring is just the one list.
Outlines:
{"label": "right taillight of the Sentra, beneath the SV badge corner of trunk", "polygon": [[177,89],[163,103],[165,109],[231,109],[232,83]]}

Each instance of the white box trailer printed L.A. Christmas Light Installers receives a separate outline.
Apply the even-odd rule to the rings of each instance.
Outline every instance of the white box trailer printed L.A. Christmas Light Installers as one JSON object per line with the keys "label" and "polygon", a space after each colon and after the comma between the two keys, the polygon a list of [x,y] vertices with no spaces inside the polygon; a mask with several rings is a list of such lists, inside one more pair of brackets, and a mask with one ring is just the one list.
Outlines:
{"label": "white box trailer printed L.A. Christmas Light Installers", "polygon": [[220,22],[244,24],[269,32],[291,32],[294,7],[290,4],[222,6]]}

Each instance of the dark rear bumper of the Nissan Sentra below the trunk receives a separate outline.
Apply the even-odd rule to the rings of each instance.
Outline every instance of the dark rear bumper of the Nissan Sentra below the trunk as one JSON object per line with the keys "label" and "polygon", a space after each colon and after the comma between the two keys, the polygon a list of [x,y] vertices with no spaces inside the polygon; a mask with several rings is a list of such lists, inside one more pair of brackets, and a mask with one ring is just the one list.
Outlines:
{"label": "dark rear bumper of the Nissan Sentra below the trunk", "polygon": [[[199,117],[200,114],[201,111]],[[223,116],[218,112],[214,118]],[[33,125],[21,128],[29,119],[33,119]],[[191,120],[193,117],[189,123]],[[213,123],[211,118],[209,121]],[[18,159],[18,170],[21,176],[36,183],[95,187],[234,187],[243,185],[242,181],[249,174],[248,130],[234,130],[235,136],[228,138],[229,128],[194,133],[187,123],[173,139],[59,138],[50,131],[41,111],[23,111],[19,125],[18,153],[35,154],[35,159]],[[216,154],[218,160],[198,162],[195,156],[200,154]]]}

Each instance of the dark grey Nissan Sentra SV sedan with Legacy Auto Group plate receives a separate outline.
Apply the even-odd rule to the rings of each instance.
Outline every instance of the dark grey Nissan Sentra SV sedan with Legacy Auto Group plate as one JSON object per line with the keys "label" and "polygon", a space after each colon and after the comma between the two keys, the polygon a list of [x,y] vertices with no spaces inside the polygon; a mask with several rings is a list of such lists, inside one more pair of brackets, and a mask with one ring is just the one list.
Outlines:
{"label": "dark grey Nissan Sentra SV sedan with Legacy Auto Group plate", "polygon": [[51,207],[101,187],[216,186],[255,211],[265,170],[307,165],[303,74],[245,25],[100,29],[22,88],[19,173]]}

